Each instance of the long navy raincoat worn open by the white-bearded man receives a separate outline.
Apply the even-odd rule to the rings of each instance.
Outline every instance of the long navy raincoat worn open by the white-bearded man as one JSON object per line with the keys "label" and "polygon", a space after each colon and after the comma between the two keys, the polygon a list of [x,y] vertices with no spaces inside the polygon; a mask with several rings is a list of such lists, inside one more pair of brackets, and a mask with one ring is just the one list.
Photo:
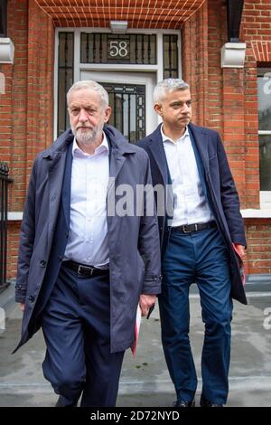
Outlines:
{"label": "long navy raincoat worn open by the white-bearded man", "polygon": [[[117,197],[119,184],[151,184],[149,159],[144,149],[129,144],[114,128],[105,127],[111,146],[107,200]],[[73,136],[68,130],[34,161],[24,206],[20,235],[16,301],[25,303],[23,345],[40,327],[41,288],[51,253],[61,201],[67,150]],[[134,191],[135,192],[135,191]],[[135,204],[135,198],[134,198]],[[135,209],[136,211],[136,209]],[[110,260],[111,352],[132,345],[140,294],[159,294],[161,288],[159,231],[156,216],[107,216]],[[36,313],[38,312],[38,314]],[[16,349],[17,349],[16,348]]]}

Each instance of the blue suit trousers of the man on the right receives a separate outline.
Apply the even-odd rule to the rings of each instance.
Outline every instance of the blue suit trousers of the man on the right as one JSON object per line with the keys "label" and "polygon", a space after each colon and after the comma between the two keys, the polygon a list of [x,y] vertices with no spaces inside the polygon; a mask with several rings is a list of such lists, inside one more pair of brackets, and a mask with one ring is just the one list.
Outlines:
{"label": "blue suit trousers of the man on the right", "polygon": [[220,232],[172,231],[163,260],[159,307],[165,360],[178,400],[192,401],[197,375],[189,339],[189,288],[196,282],[205,324],[201,355],[202,396],[223,404],[229,392],[230,298],[229,256]]}

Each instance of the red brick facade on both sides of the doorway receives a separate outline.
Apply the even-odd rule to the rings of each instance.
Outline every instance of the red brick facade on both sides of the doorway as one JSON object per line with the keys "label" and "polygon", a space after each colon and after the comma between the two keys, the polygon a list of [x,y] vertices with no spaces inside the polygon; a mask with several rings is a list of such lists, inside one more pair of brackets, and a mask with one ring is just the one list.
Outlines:
{"label": "red brick facade on both sides of the doorway", "polygon": [[[51,144],[53,117],[53,25],[34,0],[8,2],[8,35],[14,65],[5,72],[0,95],[0,157],[11,167],[14,184],[9,211],[23,210],[28,176],[38,151]],[[193,121],[220,132],[242,208],[259,207],[257,61],[271,61],[270,0],[246,0],[241,42],[245,68],[220,67],[227,42],[226,1],[208,0],[182,27],[182,76],[192,86]],[[271,219],[246,220],[248,273],[269,273]],[[15,275],[19,223],[9,223],[8,277]],[[264,247],[264,249],[263,249]]]}

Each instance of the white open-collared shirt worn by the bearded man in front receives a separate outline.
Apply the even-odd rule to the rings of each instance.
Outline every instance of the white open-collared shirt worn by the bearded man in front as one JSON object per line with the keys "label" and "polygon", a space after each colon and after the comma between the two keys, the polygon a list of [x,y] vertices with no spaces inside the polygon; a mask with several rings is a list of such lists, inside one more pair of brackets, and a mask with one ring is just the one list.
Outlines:
{"label": "white open-collared shirt worn by the bearded man in front", "polygon": [[107,184],[109,150],[107,137],[93,155],[83,152],[76,139],[72,146],[70,184],[70,232],[64,260],[90,266],[109,262],[107,242]]}

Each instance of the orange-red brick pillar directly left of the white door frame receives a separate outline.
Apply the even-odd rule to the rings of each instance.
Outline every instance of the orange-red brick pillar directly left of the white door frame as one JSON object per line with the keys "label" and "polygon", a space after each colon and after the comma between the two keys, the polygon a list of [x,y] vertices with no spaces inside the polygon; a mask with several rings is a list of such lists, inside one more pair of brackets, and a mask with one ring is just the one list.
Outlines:
{"label": "orange-red brick pillar directly left of the white door frame", "polygon": [[35,156],[52,143],[53,27],[34,0],[29,1],[26,182]]}

